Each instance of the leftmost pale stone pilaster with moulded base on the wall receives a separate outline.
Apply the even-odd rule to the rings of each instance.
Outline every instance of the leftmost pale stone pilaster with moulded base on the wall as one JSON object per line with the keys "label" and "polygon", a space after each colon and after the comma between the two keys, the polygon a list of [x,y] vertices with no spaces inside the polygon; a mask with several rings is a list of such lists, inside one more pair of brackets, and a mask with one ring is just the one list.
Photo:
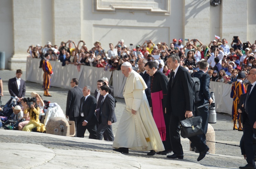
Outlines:
{"label": "leftmost pale stone pilaster with moulded base on the wall", "polygon": [[41,1],[12,0],[13,5],[13,52],[8,60],[10,70],[26,70],[26,59],[30,45],[38,44],[41,39]]}

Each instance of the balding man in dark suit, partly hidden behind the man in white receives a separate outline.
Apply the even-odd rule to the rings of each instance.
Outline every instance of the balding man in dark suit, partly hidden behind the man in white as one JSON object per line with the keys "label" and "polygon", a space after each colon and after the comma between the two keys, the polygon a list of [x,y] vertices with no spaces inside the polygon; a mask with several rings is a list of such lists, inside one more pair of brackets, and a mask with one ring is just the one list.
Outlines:
{"label": "balding man in dark suit, partly hidden behind the man in white", "polygon": [[142,76],[143,80],[145,81],[147,88],[145,89],[145,94],[147,96],[148,104],[151,102],[151,93],[150,93],[150,75],[147,74],[145,69],[145,64],[147,63],[146,59],[140,59],[138,61],[138,67],[141,71],[140,75]]}

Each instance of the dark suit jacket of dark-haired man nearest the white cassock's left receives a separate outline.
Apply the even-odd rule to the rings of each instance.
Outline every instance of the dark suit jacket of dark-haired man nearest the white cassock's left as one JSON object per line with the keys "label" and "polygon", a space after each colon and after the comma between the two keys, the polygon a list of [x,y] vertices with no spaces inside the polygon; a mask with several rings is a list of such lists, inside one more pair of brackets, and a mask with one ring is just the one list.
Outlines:
{"label": "dark suit jacket of dark-haired man nearest the white cassock's left", "polygon": [[102,124],[108,124],[108,121],[112,123],[116,122],[115,115],[115,99],[110,95],[106,95],[106,98],[100,106],[101,122]]}

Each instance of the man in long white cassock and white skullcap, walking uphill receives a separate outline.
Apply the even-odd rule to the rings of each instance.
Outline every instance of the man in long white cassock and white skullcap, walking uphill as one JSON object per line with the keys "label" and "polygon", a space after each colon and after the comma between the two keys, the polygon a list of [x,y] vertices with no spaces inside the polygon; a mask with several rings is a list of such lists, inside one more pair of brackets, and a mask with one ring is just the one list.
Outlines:
{"label": "man in long white cassock and white skullcap, walking uphill", "polygon": [[129,62],[121,66],[127,77],[124,87],[126,107],[119,121],[112,147],[114,151],[129,153],[137,151],[164,151],[161,137],[148,105],[143,78],[132,70]]}

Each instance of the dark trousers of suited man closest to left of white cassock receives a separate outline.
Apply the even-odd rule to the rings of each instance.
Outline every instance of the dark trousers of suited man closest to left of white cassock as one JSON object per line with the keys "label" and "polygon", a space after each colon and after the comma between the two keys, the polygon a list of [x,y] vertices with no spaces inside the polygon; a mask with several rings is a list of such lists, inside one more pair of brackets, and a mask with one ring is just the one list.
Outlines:
{"label": "dark trousers of suited man closest to left of white cassock", "polygon": [[102,140],[103,139],[103,133],[108,138],[108,141],[114,141],[114,135],[112,132],[112,125],[108,124],[100,124],[97,128],[97,139]]}

